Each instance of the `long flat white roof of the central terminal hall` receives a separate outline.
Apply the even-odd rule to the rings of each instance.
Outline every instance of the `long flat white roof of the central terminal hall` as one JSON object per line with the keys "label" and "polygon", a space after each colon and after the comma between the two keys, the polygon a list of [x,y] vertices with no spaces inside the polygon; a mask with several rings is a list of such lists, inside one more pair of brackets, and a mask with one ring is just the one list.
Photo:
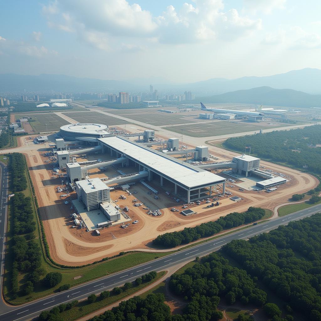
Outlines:
{"label": "long flat white roof of the central terminal hall", "polygon": [[119,136],[98,138],[98,140],[187,188],[210,186],[225,181],[221,176],[187,163],[182,164],[172,157]]}

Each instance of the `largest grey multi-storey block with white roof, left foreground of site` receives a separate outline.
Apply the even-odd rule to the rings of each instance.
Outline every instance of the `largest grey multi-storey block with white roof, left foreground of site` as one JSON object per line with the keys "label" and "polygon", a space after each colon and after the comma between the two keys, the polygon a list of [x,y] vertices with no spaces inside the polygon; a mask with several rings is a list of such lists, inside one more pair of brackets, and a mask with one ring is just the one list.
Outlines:
{"label": "largest grey multi-storey block with white roof, left foreground of site", "polygon": [[109,187],[100,178],[85,179],[76,184],[77,197],[87,211],[99,208],[99,204],[110,201]]}

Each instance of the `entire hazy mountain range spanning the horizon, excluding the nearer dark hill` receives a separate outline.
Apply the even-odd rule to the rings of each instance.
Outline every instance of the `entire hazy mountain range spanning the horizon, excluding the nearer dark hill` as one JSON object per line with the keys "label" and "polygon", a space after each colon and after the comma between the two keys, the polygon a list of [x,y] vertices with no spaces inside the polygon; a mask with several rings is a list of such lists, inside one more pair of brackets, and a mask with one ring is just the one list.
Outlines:
{"label": "entire hazy mountain range spanning the horizon, excluding the nearer dark hill", "polygon": [[175,91],[177,94],[190,90],[196,96],[218,95],[230,91],[268,86],[275,89],[292,89],[310,94],[321,94],[321,70],[305,68],[292,70],[285,74],[264,77],[241,77],[237,79],[212,78],[200,82],[172,84],[165,83],[161,77],[134,78],[127,81],[78,78],[58,74],[39,76],[0,74],[0,91],[61,91],[61,92],[118,92],[148,91],[151,81],[158,91]]}

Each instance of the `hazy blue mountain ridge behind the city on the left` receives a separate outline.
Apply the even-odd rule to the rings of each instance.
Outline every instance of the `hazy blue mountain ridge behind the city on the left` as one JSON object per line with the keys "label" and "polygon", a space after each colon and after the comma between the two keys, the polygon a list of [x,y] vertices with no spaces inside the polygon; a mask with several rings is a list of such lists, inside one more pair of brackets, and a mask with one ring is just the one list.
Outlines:
{"label": "hazy blue mountain ridge behind the city on the left", "polygon": [[133,85],[118,80],[101,80],[93,78],[77,78],[66,75],[40,74],[39,76],[1,74],[1,91],[62,91],[90,92],[131,90]]}

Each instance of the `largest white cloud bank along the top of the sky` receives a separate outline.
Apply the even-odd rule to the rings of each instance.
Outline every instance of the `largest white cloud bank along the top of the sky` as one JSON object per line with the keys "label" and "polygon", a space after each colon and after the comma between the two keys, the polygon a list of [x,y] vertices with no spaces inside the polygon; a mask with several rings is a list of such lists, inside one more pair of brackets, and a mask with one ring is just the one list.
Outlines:
{"label": "largest white cloud bank along the top of the sky", "polygon": [[[43,12],[50,27],[75,31],[78,39],[102,50],[124,48],[120,45],[124,43],[122,37],[126,41],[132,37],[139,42],[185,44],[231,41],[261,29],[260,19],[241,16],[236,9],[224,12],[222,0],[193,2],[178,10],[169,5],[157,17],[126,0],[59,0]],[[110,42],[115,45],[110,46]]]}

